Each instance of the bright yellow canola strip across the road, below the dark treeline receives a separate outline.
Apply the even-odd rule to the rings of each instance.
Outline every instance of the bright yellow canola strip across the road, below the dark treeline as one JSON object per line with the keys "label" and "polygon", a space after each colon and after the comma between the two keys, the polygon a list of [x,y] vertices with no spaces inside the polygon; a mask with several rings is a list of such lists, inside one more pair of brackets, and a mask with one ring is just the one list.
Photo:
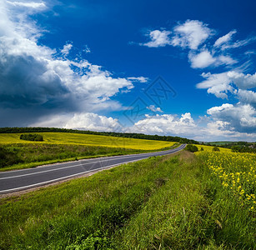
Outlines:
{"label": "bright yellow canola strip across the road, below the dark treeline", "polygon": [[[86,146],[100,146],[110,148],[131,148],[136,150],[158,150],[174,145],[173,142],[116,138],[102,135],[79,134],[79,133],[38,133],[43,136],[43,142],[51,144],[76,144]],[[0,133],[1,144],[9,143],[35,143],[21,140],[21,133]]]}

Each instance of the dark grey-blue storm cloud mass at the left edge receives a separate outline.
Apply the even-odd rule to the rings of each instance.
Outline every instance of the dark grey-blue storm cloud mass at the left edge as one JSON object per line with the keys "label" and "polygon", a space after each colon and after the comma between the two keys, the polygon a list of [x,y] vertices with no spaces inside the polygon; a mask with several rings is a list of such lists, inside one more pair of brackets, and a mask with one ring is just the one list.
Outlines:
{"label": "dark grey-blue storm cloud mass at the left edge", "polygon": [[0,60],[2,107],[32,107],[63,102],[68,89],[54,72],[32,56],[6,56]]}

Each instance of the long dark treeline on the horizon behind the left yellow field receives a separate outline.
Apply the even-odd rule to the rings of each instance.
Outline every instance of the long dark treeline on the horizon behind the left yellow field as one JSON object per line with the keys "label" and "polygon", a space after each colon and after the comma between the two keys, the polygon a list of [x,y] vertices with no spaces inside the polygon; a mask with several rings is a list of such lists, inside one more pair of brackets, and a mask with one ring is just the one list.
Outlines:
{"label": "long dark treeline on the horizon behind the left yellow field", "polygon": [[145,140],[157,140],[166,142],[178,142],[187,144],[199,144],[197,141],[190,140],[187,138],[172,137],[172,136],[158,136],[148,135],[143,133],[116,133],[116,132],[95,132],[89,130],[77,130],[67,128],[0,128],[0,133],[43,133],[43,132],[62,132],[62,133],[83,133],[83,134],[94,134],[94,135],[105,135],[118,138],[137,138]]}

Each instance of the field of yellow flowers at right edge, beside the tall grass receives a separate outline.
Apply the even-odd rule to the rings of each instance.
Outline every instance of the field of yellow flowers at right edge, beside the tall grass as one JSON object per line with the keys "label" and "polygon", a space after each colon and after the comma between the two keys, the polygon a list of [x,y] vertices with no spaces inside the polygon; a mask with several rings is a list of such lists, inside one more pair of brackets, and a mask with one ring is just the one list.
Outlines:
{"label": "field of yellow flowers at right edge, beside the tall grass", "polygon": [[198,152],[213,176],[242,206],[256,213],[256,154],[227,152]]}

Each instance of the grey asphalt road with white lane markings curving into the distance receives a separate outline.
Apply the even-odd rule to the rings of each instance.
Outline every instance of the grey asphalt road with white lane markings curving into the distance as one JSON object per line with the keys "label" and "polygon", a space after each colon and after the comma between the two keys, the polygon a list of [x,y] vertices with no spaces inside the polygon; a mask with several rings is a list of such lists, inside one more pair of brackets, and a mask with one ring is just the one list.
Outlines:
{"label": "grey asphalt road with white lane markings curving into the distance", "polygon": [[35,188],[49,183],[73,178],[84,173],[109,168],[122,163],[136,162],[153,156],[162,156],[176,153],[186,147],[186,144],[178,148],[155,153],[140,153],[133,155],[84,159],[76,162],[58,163],[38,168],[28,168],[0,173],[0,194],[12,193],[28,188]]}

